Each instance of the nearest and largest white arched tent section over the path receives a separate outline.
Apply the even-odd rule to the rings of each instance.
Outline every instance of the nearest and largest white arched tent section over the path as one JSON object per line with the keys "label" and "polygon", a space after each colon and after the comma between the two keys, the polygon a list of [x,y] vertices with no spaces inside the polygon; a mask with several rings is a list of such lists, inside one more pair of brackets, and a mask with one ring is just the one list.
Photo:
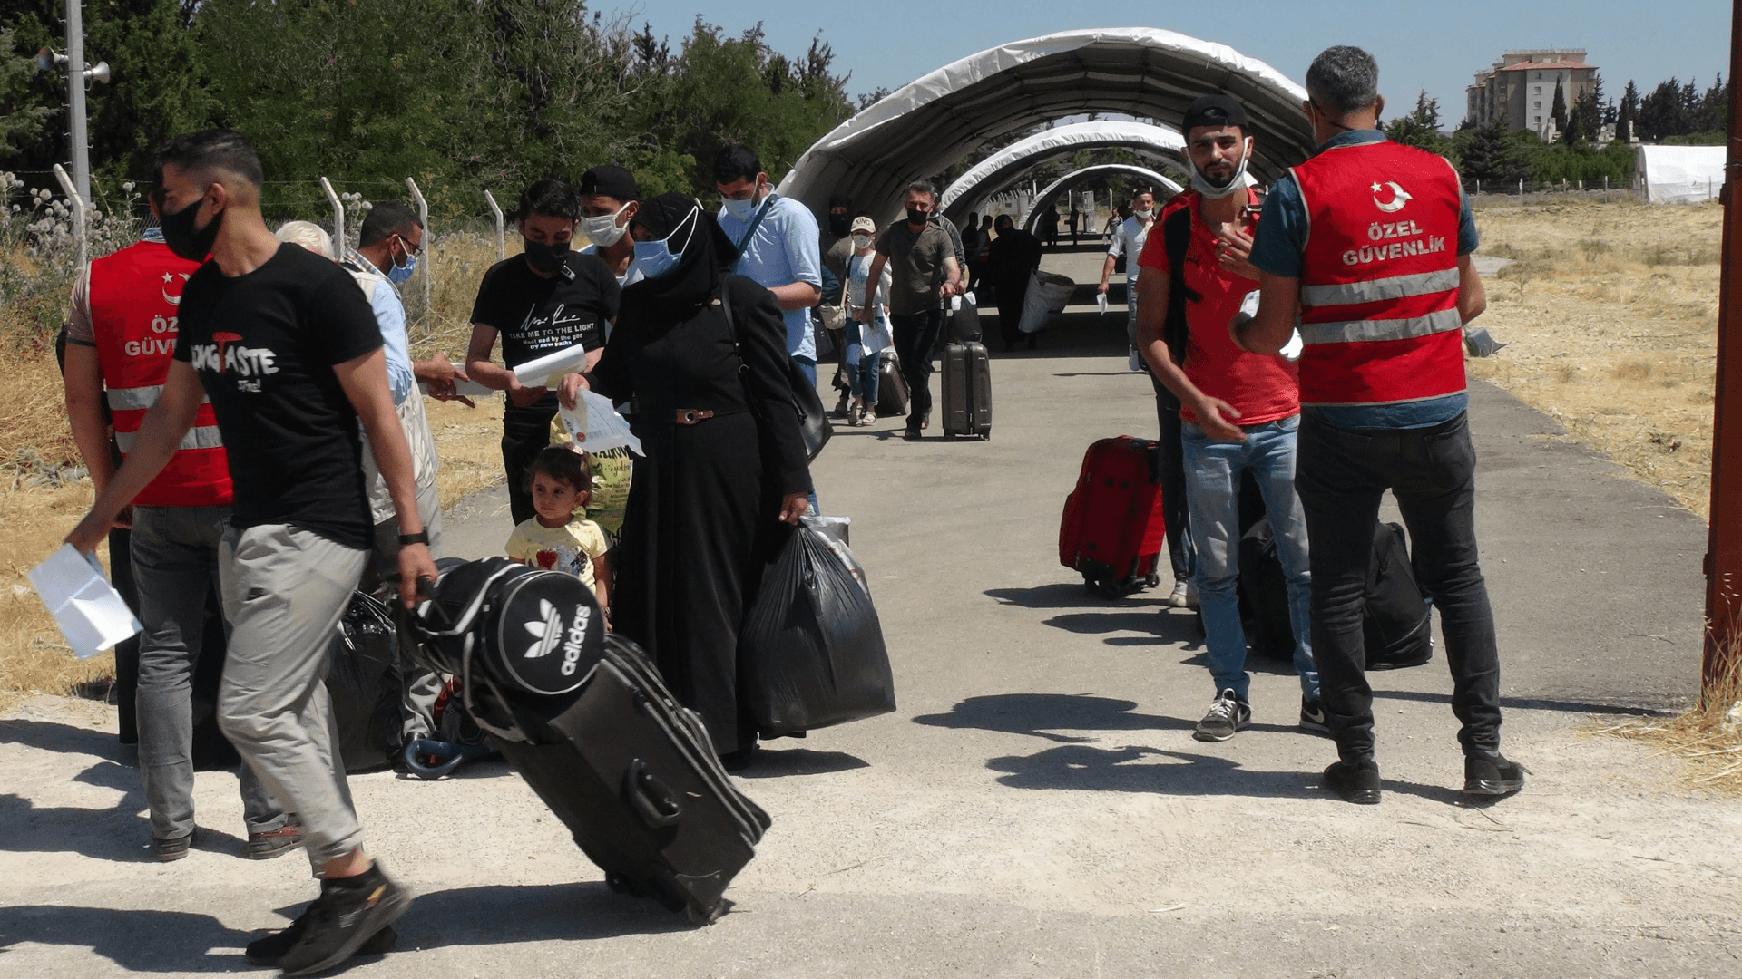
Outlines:
{"label": "nearest and largest white arched tent section over the path", "polygon": [[1246,105],[1259,179],[1312,152],[1306,91],[1270,64],[1157,28],[1075,30],[991,47],[901,87],[807,150],[780,193],[820,213],[843,192],[883,221],[901,209],[902,186],[1007,132],[1084,113],[1178,129],[1192,99],[1212,91]]}

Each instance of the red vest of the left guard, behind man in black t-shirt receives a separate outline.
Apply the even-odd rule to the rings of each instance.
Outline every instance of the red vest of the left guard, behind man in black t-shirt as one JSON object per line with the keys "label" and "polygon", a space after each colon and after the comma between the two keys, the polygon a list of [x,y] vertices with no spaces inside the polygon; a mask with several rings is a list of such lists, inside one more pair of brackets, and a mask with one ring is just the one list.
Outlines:
{"label": "red vest of the left guard, behind man in black t-shirt", "polygon": [[[199,267],[176,258],[160,242],[139,242],[91,263],[91,326],[122,455],[132,449],[139,422],[164,390],[176,350],[181,287]],[[132,502],[143,507],[230,503],[230,460],[211,404],[200,404],[169,465]]]}

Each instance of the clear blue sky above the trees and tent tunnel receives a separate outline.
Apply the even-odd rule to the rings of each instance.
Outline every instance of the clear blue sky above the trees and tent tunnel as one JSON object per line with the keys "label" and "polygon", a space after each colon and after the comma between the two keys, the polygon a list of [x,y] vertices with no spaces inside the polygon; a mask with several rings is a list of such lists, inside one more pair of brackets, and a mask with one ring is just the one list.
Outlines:
{"label": "clear blue sky above the trees and tent tunnel", "polygon": [[[598,9],[610,3],[596,0]],[[1268,61],[1296,82],[1313,54],[1333,44],[1357,44],[1380,59],[1385,101],[1397,111],[1427,89],[1441,101],[1449,127],[1462,117],[1463,87],[1505,49],[1583,47],[1603,70],[1604,91],[1620,96],[1629,78],[1641,89],[1676,75],[1711,85],[1728,71],[1730,5],[1714,0],[1519,3],[1378,3],[1313,0],[1294,3],[1190,3],[1129,0],[1071,3],[998,0],[941,5],[935,0],[822,2],[641,0],[636,26],[676,42],[700,14],[730,31],[763,21],[770,44],[801,54],[822,30],[834,45],[838,70],[852,70],[847,89],[899,89],[920,75],[996,44],[1070,28],[1153,26],[1214,40]],[[948,17],[937,21],[939,10]],[[988,14],[989,10],[989,14]],[[1395,115],[1395,111],[1387,111]]]}

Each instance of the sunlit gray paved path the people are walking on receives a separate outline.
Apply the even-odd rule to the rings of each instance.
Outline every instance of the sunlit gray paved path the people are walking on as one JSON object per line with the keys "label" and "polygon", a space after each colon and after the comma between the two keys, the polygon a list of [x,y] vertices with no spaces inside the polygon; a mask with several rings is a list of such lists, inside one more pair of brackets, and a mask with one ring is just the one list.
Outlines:
{"label": "sunlit gray paved path the people are walking on", "polygon": [[[1078,256],[1071,256],[1078,258]],[[1078,275],[1089,280],[1087,275]],[[371,848],[422,897],[355,976],[1737,976],[1742,805],[1589,733],[1695,690],[1704,528],[1496,388],[1472,390],[1479,531],[1528,789],[1456,805],[1444,658],[1374,676],[1385,803],[1319,786],[1329,742],[1252,664],[1256,725],[1205,746],[1192,617],[1089,596],[1056,563],[1096,437],[1153,430],[1122,326],[1066,317],[1000,357],[988,442],[843,429],[817,463],[854,517],[895,714],[779,740],[744,780],[775,819],[732,915],[692,930],[613,895],[507,768],[354,779]],[[449,549],[496,552],[498,491]],[[240,859],[235,780],[206,833],[145,862],[111,712],[0,719],[0,974],[202,974],[312,895],[298,857]]]}

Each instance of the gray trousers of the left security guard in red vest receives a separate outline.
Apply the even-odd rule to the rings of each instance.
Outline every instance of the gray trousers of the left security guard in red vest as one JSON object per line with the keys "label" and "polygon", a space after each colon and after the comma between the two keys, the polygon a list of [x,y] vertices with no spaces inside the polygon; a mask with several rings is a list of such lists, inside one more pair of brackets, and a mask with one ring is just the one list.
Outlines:
{"label": "gray trousers of the left security guard in red vest", "polygon": [[[206,636],[206,596],[218,578],[218,545],[230,507],[134,507],[132,566],[139,587],[139,775],[152,836],[193,833],[193,667]],[[221,653],[221,652],[219,652]],[[247,765],[242,819],[249,833],[286,822]]]}

